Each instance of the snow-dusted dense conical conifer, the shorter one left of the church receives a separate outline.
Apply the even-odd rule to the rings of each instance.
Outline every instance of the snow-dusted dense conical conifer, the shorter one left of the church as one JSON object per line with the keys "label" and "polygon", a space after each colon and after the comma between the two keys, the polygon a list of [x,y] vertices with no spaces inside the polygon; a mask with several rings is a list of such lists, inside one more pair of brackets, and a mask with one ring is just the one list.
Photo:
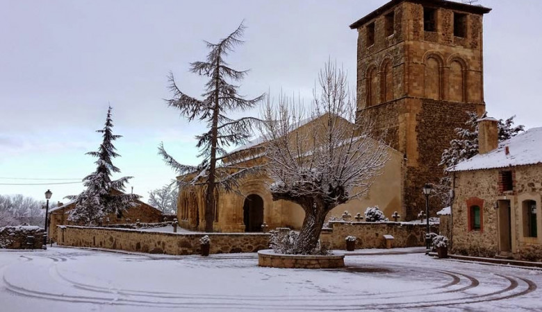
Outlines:
{"label": "snow-dusted dense conical conifer, the shorter one left of the church", "polygon": [[97,157],[96,171],[83,178],[86,189],[79,195],[66,196],[73,200],[75,208],[69,214],[69,220],[85,225],[99,225],[108,214],[122,214],[129,207],[136,205],[140,197],[135,194],[124,193],[124,184],[131,177],[121,177],[111,180],[112,173],[120,173],[120,169],[113,165],[113,158],[120,155],[115,153],[113,141],[122,135],[113,135],[113,119],[111,110],[107,111],[104,128],[96,130],[102,134],[103,141],[96,152],[88,152],[86,155]]}

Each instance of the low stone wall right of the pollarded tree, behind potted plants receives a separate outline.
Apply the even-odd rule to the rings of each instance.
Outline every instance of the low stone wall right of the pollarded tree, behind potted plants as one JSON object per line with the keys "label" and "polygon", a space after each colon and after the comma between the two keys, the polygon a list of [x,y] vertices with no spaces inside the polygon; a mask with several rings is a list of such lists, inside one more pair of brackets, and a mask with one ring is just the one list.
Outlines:
{"label": "low stone wall right of the pollarded tree, behind potted plants", "polygon": [[[425,224],[402,222],[341,222],[330,221],[330,229],[322,229],[320,241],[329,249],[346,249],[346,236],[356,236],[356,249],[386,248],[384,235],[392,235],[393,248],[425,246]],[[438,233],[438,224],[431,224]]]}

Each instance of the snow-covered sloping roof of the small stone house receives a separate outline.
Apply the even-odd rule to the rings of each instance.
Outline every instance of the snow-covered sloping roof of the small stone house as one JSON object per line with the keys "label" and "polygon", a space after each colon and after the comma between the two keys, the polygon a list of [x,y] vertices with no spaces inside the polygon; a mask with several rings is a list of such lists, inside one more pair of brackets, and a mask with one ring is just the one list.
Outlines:
{"label": "snow-covered sloping roof of the small stone house", "polygon": [[531,164],[542,164],[542,127],[529,129],[502,142],[495,150],[460,162],[448,171],[471,171]]}

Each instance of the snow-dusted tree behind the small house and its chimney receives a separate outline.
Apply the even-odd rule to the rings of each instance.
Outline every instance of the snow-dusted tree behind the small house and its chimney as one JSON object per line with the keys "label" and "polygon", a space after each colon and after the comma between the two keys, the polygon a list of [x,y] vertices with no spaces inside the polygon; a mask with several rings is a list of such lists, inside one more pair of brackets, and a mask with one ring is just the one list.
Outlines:
{"label": "snow-dusted tree behind the small house and its chimney", "polygon": [[[478,155],[478,120],[487,117],[487,112],[484,112],[482,116],[478,116],[476,112],[467,112],[468,119],[465,122],[465,128],[456,128],[455,132],[457,134],[457,139],[450,141],[450,148],[446,148],[441,156],[441,162],[439,166],[444,167],[445,175],[441,178],[441,181],[436,185],[435,191],[443,207],[450,206],[452,204],[451,200],[451,187],[452,182],[450,175],[447,173],[446,169],[452,166],[455,166],[463,160],[470,159]],[[516,135],[523,132],[525,129],[524,125],[514,125],[514,118],[516,116],[511,116],[510,118],[503,120],[499,119],[498,123],[498,139],[499,143],[511,139]]]}

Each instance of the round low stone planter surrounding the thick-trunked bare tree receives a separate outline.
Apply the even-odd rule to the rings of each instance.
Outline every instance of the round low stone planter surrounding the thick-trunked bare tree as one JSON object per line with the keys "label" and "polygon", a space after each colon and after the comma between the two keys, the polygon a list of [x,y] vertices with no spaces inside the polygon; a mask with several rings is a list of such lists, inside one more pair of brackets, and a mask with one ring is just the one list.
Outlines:
{"label": "round low stone planter surrounding the thick-trunked bare tree", "polygon": [[334,252],[328,256],[277,254],[273,250],[258,251],[258,266],[270,268],[343,268],[345,255]]}

